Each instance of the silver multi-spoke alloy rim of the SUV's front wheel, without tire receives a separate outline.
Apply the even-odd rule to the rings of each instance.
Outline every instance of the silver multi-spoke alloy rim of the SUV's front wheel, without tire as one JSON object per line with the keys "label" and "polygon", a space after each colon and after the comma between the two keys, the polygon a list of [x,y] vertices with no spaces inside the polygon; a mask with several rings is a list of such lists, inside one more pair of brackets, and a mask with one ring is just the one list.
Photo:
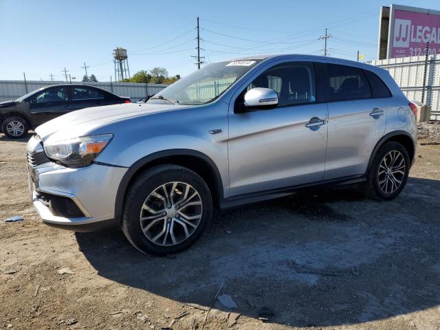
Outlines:
{"label": "silver multi-spoke alloy rim of the SUV's front wheel, without tire", "polygon": [[185,182],[168,182],[146,197],[140,211],[140,226],[152,243],[177,245],[195,232],[202,213],[201,197],[194,187]]}

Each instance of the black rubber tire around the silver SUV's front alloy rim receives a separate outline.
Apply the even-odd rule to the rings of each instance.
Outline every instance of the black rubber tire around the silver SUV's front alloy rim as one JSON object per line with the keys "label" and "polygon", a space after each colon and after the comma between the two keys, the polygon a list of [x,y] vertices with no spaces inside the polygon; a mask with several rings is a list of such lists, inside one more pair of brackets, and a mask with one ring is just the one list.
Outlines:
{"label": "black rubber tire around the silver SUV's front alloy rim", "polygon": [[[191,230],[193,230],[193,232],[192,234],[190,234],[190,236],[184,239],[184,241],[181,241],[175,245],[158,245],[156,243],[153,243],[153,241],[151,241],[151,238],[148,239],[146,234],[144,234],[144,232],[142,231],[140,221],[140,217],[142,214],[141,212],[144,212],[142,210],[144,202],[146,202],[146,199],[150,196],[151,193],[157,191],[157,188],[159,188],[159,186],[173,182],[181,182],[190,185],[191,188],[198,193],[198,196],[196,197],[199,198],[199,201],[201,201],[201,210],[199,211],[201,212],[201,219],[199,219],[199,223],[195,230],[190,228]],[[168,187],[169,185],[170,184],[168,184]],[[170,191],[173,191],[172,188]],[[164,209],[165,208],[166,206],[164,206]],[[140,252],[143,252],[145,254],[155,254],[158,256],[163,256],[166,254],[181,252],[194,244],[197,239],[199,239],[201,234],[203,234],[203,232],[206,230],[208,223],[210,222],[211,216],[212,197],[205,181],[203,181],[203,179],[199,175],[197,175],[197,173],[189,170],[188,168],[172,164],[164,164],[154,166],[152,168],[149,168],[148,170],[145,170],[144,173],[139,175],[135,179],[133,184],[129,186],[124,201],[124,211],[122,212],[121,227],[122,232],[124,232],[126,238],[135,248],[137,248],[137,250],[140,250]],[[166,217],[168,217],[168,214],[166,215]],[[179,215],[177,215],[176,217],[179,217]],[[171,218],[168,218],[168,220],[163,220],[164,230],[166,225],[168,225],[168,223],[166,223],[165,221],[169,221],[169,219]],[[162,220],[158,221],[158,226],[162,226],[161,221]],[[173,224],[174,223],[175,222],[173,222]],[[175,230],[179,230],[179,228],[177,227],[179,226],[175,225],[175,227],[173,228],[175,228]],[[181,230],[183,230],[183,227]],[[166,232],[166,234],[168,234],[168,231]],[[162,240],[162,236],[160,237],[160,239]]]}

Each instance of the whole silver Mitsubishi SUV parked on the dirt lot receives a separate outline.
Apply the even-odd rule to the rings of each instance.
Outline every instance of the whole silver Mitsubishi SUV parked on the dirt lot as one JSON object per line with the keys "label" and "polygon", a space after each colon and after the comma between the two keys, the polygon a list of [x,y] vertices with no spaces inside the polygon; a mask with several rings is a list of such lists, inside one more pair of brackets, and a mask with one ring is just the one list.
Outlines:
{"label": "whole silver Mitsubishi SUV parked on the dirt lot", "polygon": [[384,69],[303,55],[214,63],[146,103],[68,113],[28,142],[32,200],[48,225],[119,225],[138,250],[188,248],[212,208],[322,184],[404,188],[414,104]]}

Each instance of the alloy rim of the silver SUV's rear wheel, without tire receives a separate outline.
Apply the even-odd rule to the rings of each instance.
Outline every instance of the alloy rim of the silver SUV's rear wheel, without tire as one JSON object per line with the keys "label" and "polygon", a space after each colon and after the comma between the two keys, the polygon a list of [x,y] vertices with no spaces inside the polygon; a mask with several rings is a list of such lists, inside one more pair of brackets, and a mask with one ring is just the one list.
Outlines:
{"label": "alloy rim of the silver SUV's rear wheel, without tire", "polygon": [[377,173],[380,189],[386,194],[392,194],[401,186],[405,173],[404,155],[397,150],[390,151],[382,158]]}

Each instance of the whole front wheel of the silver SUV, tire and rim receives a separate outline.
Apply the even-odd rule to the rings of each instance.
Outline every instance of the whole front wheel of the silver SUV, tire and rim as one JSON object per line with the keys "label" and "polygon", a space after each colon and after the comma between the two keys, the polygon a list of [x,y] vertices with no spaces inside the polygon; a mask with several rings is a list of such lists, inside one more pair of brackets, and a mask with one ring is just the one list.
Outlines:
{"label": "whole front wheel of the silver SUV, tire and rim", "polygon": [[212,197],[197,173],[177,165],[149,168],[125,197],[122,231],[141,252],[166,255],[194,244],[212,215]]}

